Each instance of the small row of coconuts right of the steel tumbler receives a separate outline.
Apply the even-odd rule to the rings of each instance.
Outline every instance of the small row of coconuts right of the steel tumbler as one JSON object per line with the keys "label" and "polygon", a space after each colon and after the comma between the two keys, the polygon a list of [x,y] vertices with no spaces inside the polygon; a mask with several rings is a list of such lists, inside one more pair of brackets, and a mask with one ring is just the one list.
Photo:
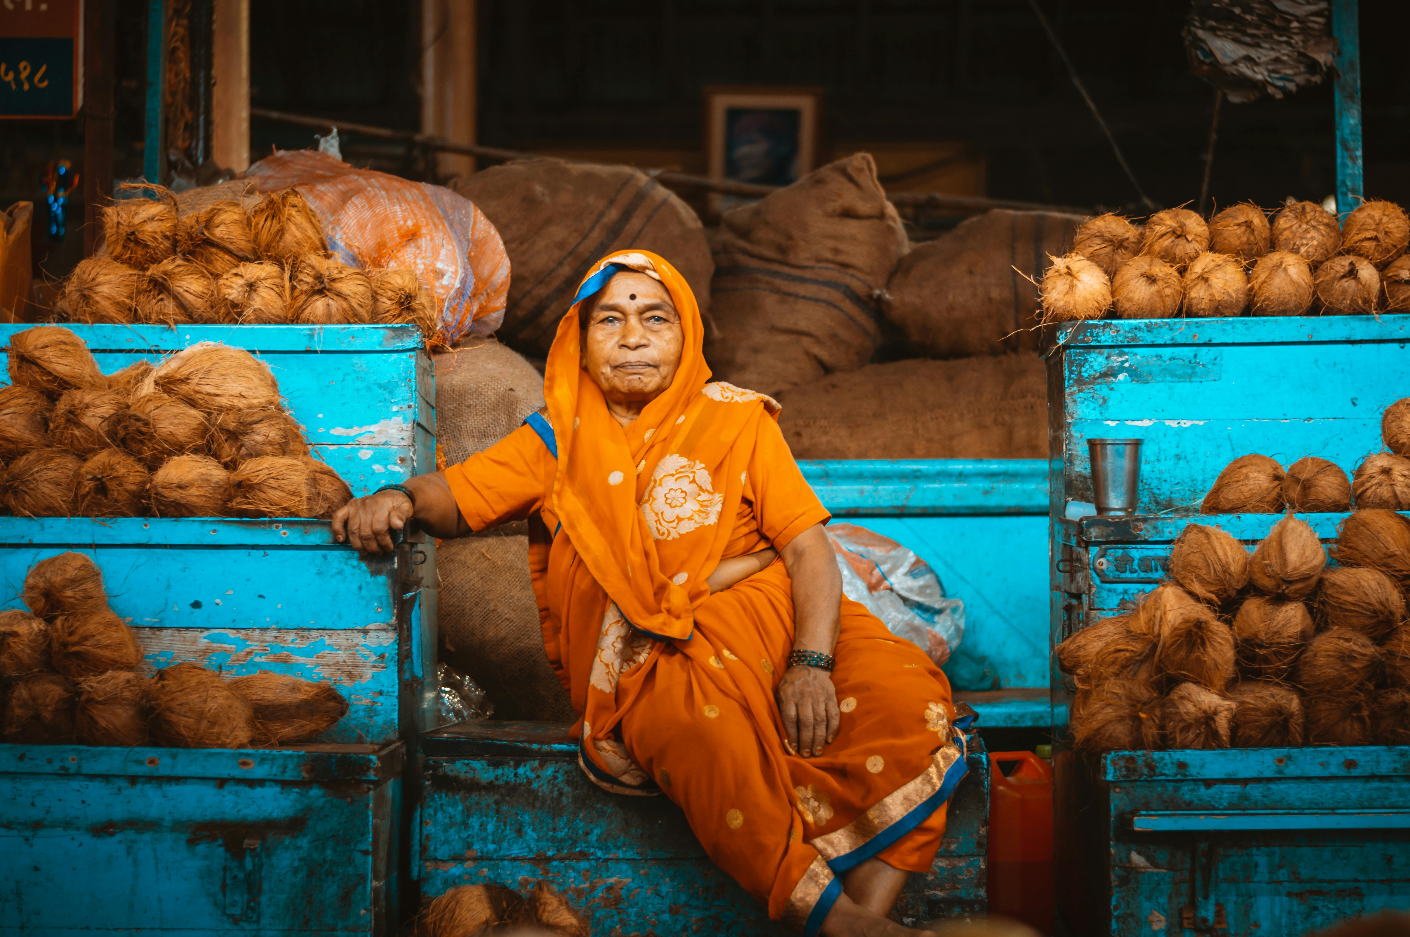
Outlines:
{"label": "small row of coconuts right of the steel tumbler", "polygon": [[1241,455],[1204,495],[1203,514],[1349,511],[1356,507],[1410,510],[1410,397],[1380,414],[1389,452],[1371,452],[1351,478],[1334,462],[1308,455],[1285,471],[1266,455]]}

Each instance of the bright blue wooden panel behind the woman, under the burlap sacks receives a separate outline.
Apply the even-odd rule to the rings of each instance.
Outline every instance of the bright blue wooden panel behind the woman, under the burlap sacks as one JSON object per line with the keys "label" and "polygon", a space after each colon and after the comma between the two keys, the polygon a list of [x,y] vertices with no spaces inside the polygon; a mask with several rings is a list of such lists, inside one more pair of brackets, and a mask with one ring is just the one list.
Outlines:
{"label": "bright blue wooden panel behind the woman, under the burlap sacks", "polygon": [[[835,520],[905,544],[939,573],[946,595],[964,602],[962,659],[946,672],[980,726],[1048,726],[1048,462],[798,465]],[[981,679],[966,682],[980,669],[976,661]]]}

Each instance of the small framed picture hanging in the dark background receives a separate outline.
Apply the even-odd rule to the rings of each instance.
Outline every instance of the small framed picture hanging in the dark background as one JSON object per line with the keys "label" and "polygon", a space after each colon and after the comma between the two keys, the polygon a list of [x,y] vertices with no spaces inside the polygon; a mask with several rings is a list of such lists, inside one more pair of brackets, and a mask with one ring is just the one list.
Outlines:
{"label": "small framed picture hanging in the dark background", "polygon": [[[822,89],[712,86],[705,89],[705,148],[709,176],[787,186],[818,162]],[[711,199],[728,210],[739,196]]]}

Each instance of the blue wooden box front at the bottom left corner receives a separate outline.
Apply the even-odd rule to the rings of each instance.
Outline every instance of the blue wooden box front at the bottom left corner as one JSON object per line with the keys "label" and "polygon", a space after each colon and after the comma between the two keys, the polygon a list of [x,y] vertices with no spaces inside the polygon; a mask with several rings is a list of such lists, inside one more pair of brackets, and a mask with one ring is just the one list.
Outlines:
{"label": "blue wooden box front at the bottom left corner", "polygon": [[0,933],[395,934],[402,762],[0,745]]}

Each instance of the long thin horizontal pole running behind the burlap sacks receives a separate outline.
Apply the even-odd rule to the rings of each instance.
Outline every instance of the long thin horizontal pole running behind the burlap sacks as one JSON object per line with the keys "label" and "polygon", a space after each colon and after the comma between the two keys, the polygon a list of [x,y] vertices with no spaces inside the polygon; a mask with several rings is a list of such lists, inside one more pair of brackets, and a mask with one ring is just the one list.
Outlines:
{"label": "long thin horizontal pole running behind the burlap sacks", "polygon": [[[275,120],[283,124],[298,124],[300,127],[316,127],[319,130],[329,130],[337,127],[340,131],[362,134],[364,137],[378,137],[381,139],[400,139],[430,149],[437,149],[441,152],[451,154],[465,154],[467,156],[481,156],[484,159],[499,159],[508,162],[510,159],[537,159],[541,154],[523,152],[519,149],[502,149],[499,147],[481,147],[479,144],[458,144],[443,137],[433,137],[430,134],[417,134],[409,130],[391,130],[388,127],[371,127],[368,124],[354,124],[343,120],[329,120],[327,117],[306,117],[303,114],[288,114],[285,111],[268,110],[265,107],[251,107],[251,117],[262,117],[265,120]],[[584,159],[570,159],[567,162],[588,162]],[[657,182],[666,183],[668,186],[681,186],[685,189],[705,189],[706,192],[719,192],[732,196],[750,196],[754,199],[763,199],[781,186],[761,186],[753,182],[735,182],[733,179],[709,179],[708,176],[692,176],[685,172],[673,172],[668,169],[643,169],[646,175],[651,176]],[[893,204],[916,206],[925,209],[935,209],[938,211],[955,211],[960,214],[981,214],[991,209],[1008,209],[1011,211],[1063,211],[1069,214],[1091,214],[1090,207],[1081,206],[1058,206],[1058,204],[1042,204],[1036,201],[1014,201],[1010,199],[983,199],[979,196],[948,196],[929,192],[895,192],[887,193],[887,199]]]}

